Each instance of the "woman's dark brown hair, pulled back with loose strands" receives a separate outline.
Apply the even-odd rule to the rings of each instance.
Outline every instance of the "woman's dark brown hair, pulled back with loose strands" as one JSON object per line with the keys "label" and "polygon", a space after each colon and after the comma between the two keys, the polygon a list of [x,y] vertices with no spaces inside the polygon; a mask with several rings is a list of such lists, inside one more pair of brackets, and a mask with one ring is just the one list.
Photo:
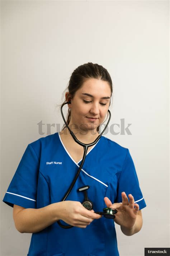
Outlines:
{"label": "woman's dark brown hair, pulled back with loose strands", "polygon": [[[93,64],[91,62],[85,63],[79,67],[77,67],[71,74],[69,85],[67,86],[65,91],[69,91],[70,95],[69,98],[67,98],[63,103],[70,101],[71,99],[74,98],[74,95],[77,90],[81,88],[83,83],[87,81],[89,78],[96,78],[100,79],[103,81],[107,81],[110,90],[111,90],[111,96],[113,93],[112,89],[112,79],[107,71],[103,66],[98,65],[98,64]],[[62,104],[63,104],[62,103]],[[109,104],[110,106],[110,104]],[[67,113],[67,125],[70,123],[70,118],[71,118],[71,109],[69,108],[68,113]],[[66,125],[64,124],[62,127],[62,130],[65,129]],[[97,132],[99,132],[99,127],[97,127]]]}

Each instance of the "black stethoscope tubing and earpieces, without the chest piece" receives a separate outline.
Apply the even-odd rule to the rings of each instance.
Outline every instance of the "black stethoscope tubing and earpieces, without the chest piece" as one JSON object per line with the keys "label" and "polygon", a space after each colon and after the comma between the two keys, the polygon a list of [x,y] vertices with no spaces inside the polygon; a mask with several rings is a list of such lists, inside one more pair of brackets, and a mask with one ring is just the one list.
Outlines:
{"label": "black stethoscope tubing and earpieces, without the chest piece", "polygon": [[[75,142],[78,143],[79,145],[81,145],[81,146],[84,148],[84,154],[83,154],[82,161],[81,161],[81,164],[80,164],[80,166],[79,166],[79,169],[78,169],[78,171],[77,171],[77,174],[75,175],[74,180],[72,181],[72,183],[71,183],[69,189],[67,190],[67,192],[65,193],[65,195],[64,195],[64,197],[62,198],[61,201],[65,201],[66,198],[69,196],[69,194],[70,194],[72,188],[74,187],[74,184],[76,183],[76,180],[77,180],[77,178],[78,178],[78,176],[79,176],[79,174],[80,174],[80,171],[81,171],[81,169],[82,169],[82,166],[83,166],[83,164],[84,164],[84,161],[85,161],[85,158],[86,158],[86,154],[87,154],[88,148],[91,147],[91,146],[93,146],[93,145],[95,145],[95,144],[98,142],[98,140],[100,139],[101,135],[102,135],[102,134],[104,133],[104,131],[106,130],[106,128],[107,128],[107,126],[108,126],[108,124],[109,124],[110,118],[111,118],[111,113],[110,113],[110,111],[109,111],[109,109],[108,109],[108,112],[109,112],[109,120],[108,120],[106,126],[104,127],[104,130],[103,130],[102,133],[94,140],[94,142],[89,143],[89,144],[85,144],[85,143],[80,142],[80,141],[76,138],[75,134],[71,131],[70,127],[67,125],[67,122],[66,122],[65,117],[64,117],[63,112],[62,112],[62,108],[63,108],[63,106],[64,106],[65,104],[70,104],[70,102],[65,102],[65,103],[63,103],[63,104],[61,105],[61,115],[62,115],[63,121],[65,122],[65,125],[66,125],[66,127],[69,129],[70,134],[71,134],[72,138],[75,140]],[[66,228],[66,229],[68,229],[68,228],[73,228],[72,225],[67,225],[67,226],[66,226],[66,225],[63,225],[63,224],[60,222],[60,220],[58,220],[57,223],[58,223],[58,225],[61,226],[61,228]]]}

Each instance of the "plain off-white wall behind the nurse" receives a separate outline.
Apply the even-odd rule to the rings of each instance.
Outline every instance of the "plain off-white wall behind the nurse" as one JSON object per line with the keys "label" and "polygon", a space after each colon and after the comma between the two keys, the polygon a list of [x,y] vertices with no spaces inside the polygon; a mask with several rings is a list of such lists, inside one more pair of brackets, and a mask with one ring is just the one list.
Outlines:
{"label": "plain off-white wall behind the nurse", "polygon": [[13,0],[1,1],[1,256],[28,253],[2,199],[27,145],[63,124],[55,105],[87,62],[112,77],[110,124],[132,123],[105,136],[131,152],[147,204],[139,233],[115,224],[120,256],[169,247],[169,1]]}

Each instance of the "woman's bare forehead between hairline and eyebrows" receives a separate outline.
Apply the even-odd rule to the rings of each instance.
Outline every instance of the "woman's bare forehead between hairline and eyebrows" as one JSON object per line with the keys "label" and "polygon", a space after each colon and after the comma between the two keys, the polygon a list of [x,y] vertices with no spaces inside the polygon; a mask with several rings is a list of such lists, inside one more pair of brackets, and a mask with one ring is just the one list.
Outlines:
{"label": "woman's bare forehead between hairline and eyebrows", "polygon": [[111,89],[107,81],[89,78],[82,84],[81,88],[77,90],[77,93],[89,93],[94,96],[110,96]]}

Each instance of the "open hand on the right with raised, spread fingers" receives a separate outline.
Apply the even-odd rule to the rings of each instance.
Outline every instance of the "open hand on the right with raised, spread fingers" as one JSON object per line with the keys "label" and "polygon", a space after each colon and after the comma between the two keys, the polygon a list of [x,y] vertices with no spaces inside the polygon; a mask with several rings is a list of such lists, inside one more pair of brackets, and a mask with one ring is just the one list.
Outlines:
{"label": "open hand on the right with raised, spread fingers", "polygon": [[133,228],[136,222],[136,217],[139,211],[139,205],[137,203],[134,203],[134,198],[132,194],[129,194],[128,197],[126,196],[125,192],[122,192],[122,203],[112,204],[108,197],[104,198],[104,202],[107,205],[107,207],[114,208],[118,211],[115,214],[115,223],[117,223],[120,226],[124,226],[125,228],[131,229]]}

